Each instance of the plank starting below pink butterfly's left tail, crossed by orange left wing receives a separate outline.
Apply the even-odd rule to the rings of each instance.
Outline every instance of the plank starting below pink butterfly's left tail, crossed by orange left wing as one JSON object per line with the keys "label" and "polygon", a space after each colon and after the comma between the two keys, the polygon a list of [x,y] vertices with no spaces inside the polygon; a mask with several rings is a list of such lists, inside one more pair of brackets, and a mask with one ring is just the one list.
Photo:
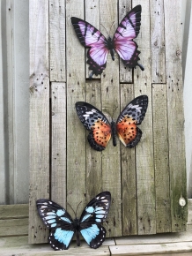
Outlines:
{"label": "plank starting below pink butterfly's left tail, crossed by orange left wing", "polygon": [[[86,102],[101,109],[100,82],[93,80],[86,83]],[[87,132],[88,135],[89,132]],[[86,201],[92,200],[102,188],[101,154],[90,147],[86,139]]]}

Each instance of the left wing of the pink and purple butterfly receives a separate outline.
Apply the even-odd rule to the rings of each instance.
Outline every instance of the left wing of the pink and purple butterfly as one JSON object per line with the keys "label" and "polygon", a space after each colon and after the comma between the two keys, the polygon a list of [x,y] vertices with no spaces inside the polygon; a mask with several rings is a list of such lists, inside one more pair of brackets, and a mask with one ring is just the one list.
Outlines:
{"label": "left wing of the pink and purple butterfly", "polygon": [[106,68],[107,39],[100,31],[83,19],[71,17],[72,25],[81,44],[90,49],[87,52],[87,63],[92,74],[101,74]]}

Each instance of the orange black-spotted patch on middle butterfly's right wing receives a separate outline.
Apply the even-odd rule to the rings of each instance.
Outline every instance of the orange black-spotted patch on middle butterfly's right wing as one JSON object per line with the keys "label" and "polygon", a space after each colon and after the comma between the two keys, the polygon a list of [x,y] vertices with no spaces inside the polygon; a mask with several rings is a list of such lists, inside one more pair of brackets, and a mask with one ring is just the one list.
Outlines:
{"label": "orange black-spotted patch on middle butterfly's right wing", "polygon": [[126,147],[137,136],[137,121],[130,117],[124,117],[116,124],[116,132],[122,144]]}

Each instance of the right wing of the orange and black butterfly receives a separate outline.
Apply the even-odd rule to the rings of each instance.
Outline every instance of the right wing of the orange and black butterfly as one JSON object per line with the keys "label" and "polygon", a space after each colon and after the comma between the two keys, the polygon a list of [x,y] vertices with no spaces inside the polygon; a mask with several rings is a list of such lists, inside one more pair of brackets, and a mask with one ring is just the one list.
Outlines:
{"label": "right wing of the orange and black butterfly", "polygon": [[122,110],[116,122],[116,131],[125,147],[135,147],[142,137],[142,131],[137,127],[144,120],[148,106],[147,95],[141,95]]}

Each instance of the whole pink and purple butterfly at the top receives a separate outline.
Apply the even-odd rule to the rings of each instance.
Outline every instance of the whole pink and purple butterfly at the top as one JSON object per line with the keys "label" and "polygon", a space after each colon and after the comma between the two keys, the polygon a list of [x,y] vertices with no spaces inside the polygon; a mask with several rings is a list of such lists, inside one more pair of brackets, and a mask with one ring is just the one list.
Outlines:
{"label": "whole pink and purple butterfly at the top", "polygon": [[72,25],[78,35],[78,39],[85,47],[90,48],[87,52],[87,64],[92,70],[90,78],[95,74],[98,76],[106,68],[107,54],[110,52],[114,60],[114,50],[122,58],[122,62],[129,68],[137,65],[144,71],[142,64],[138,64],[140,51],[137,50],[137,37],[141,26],[141,5],[137,5],[122,19],[117,27],[113,39],[108,39],[100,31],[83,19],[71,17]]}

